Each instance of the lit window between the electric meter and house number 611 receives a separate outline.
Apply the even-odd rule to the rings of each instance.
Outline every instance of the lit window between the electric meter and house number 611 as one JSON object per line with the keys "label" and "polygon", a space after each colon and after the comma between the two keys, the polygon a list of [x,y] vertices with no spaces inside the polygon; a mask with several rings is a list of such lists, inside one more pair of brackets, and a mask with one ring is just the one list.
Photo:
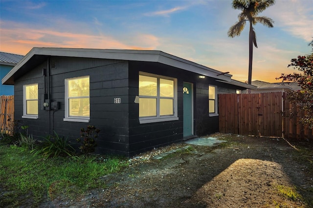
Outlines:
{"label": "lit window between the electric meter and house number 611", "polygon": [[65,80],[64,121],[89,122],[89,76]]}

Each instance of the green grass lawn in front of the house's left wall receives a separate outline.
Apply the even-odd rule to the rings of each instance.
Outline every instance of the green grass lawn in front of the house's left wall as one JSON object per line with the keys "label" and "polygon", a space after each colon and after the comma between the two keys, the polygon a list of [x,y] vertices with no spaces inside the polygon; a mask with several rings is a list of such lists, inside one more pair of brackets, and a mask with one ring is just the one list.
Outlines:
{"label": "green grass lawn in front of the house's left wall", "polygon": [[73,156],[45,159],[25,147],[0,146],[0,207],[39,204],[64,194],[74,197],[90,188],[106,187],[100,176],[128,166],[120,157]]}

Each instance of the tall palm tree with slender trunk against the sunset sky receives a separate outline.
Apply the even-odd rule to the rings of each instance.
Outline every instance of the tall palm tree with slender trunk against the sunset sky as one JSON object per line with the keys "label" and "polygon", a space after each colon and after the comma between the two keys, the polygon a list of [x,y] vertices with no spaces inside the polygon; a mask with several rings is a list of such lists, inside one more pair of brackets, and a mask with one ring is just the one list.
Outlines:
{"label": "tall palm tree with slender trunk against the sunset sky", "polygon": [[232,25],[227,34],[228,37],[234,38],[240,36],[244,30],[246,21],[249,21],[249,73],[248,83],[251,84],[252,78],[252,54],[253,44],[257,48],[256,36],[253,25],[262,23],[265,26],[273,27],[274,21],[268,17],[258,17],[257,15],[267,9],[269,6],[275,4],[275,0],[233,0],[232,7],[240,9],[242,12],[238,15],[238,21]]}

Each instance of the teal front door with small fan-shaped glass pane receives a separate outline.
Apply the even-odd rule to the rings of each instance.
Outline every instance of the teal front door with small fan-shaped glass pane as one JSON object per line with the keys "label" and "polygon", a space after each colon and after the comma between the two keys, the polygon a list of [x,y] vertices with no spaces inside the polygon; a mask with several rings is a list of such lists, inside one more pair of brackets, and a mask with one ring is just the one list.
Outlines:
{"label": "teal front door with small fan-shaped glass pane", "polygon": [[192,84],[184,83],[182,88],[183,93],[183,136],[188,137],[192,135]]}

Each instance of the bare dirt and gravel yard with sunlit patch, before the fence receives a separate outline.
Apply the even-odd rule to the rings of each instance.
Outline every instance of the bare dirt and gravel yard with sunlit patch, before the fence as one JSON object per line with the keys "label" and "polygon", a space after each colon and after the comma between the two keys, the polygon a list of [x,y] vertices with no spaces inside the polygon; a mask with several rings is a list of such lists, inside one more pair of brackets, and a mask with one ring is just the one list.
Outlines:
{"label": "bare dirt and gravel yard with sunlit patch, before the fence", "polygon": [[[61,199],[45,207],[107,208],[230,208],[309,207],[313,175],[294,160],[294,148],[276,138],[210,135],[229,142],[217,147],[177,144],[137,156],[122,172],[104,176],[108,187],[90,190],[75,200]],[[192,146],[186,154],[173,153],[152,159],[169,149]],[[134,161],[133,161],[134,163]],[[299,198],[288,199],[279,187],[293,188]],[[301,199],[302,198],[302,199]]]}

